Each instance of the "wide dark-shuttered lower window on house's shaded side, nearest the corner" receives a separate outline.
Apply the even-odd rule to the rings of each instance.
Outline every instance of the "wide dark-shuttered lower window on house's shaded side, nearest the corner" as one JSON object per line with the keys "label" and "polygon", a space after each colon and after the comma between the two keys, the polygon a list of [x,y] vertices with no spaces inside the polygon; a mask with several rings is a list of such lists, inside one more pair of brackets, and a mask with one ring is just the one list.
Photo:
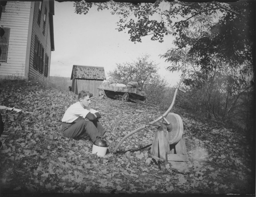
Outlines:
{"label": "wide dark-shuttered lower window on house's shaded side, nearest the corner", "polygon": [[35,36],[35,49],[34,49],[34,61],[33,66],[40,73],[44,72],[44,48],[37,36]]}

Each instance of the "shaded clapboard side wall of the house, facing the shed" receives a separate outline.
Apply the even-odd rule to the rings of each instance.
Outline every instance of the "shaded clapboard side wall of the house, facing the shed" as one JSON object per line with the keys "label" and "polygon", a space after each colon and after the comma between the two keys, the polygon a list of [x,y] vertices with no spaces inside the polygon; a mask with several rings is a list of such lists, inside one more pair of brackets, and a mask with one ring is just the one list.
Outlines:
{"label": "shaded clapboard side wall of the house, facing the shed", "polygon": [[[50,39],[50,26],[49,26],[49,1],[42,1],[42,11],[41,11],[41,19],[40,25],[38,25],[38,15],[39,15],[39,1],[35,1],[34,8],[34,18],[33,18],[33,28],[32,28],[32,36],[31,36],[31,51],[30,51],[30,62],[29,62],[29,78],[35,78],[41,82],[49,84],[50,77],[50,62],[51,62],[51,39]],[[45,25],[45,34],[43,34],[43,26],[44,26],[44,13],[45,8],[47,9],[46,13],[46,25]],[[37,35],[38,40],[44,47],[44,65],[45,65],[45,53],[49,57],[48,63],[48,76],[45,77],[44,72],[41,74],[39,70],[36,70],[33,67],[34,60],[34,50],[35,50],[35,35]]]}

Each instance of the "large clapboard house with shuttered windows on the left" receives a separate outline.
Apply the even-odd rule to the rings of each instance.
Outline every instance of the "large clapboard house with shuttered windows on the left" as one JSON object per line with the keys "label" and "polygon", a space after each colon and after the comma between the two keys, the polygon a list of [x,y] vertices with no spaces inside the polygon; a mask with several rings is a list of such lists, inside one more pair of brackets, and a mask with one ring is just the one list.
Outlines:
{"label": "large clapboard house with shuttered windows on the left", "polygon": [[1,1],[0,77],[49,83],[54,1]]}

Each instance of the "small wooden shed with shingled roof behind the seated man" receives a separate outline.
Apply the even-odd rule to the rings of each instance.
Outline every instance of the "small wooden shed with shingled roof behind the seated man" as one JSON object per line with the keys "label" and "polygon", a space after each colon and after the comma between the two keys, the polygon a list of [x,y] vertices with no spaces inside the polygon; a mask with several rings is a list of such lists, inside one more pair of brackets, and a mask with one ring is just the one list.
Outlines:
{"label": "small wooden shed with shingled roof behind the seated man", "polygon": [[104,67],[73,65],[71,91],[78,95],[81,90],[97,95],[97,87],[106,80]]}

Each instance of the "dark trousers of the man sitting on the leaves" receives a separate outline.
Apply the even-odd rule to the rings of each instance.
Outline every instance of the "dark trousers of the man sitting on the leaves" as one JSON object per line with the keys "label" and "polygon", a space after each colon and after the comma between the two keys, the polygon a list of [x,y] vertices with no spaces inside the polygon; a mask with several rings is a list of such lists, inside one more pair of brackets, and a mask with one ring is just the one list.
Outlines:
{"label": "dark trousers of the man sitting on the leaves", "polygon": [[103,136],[106,132],[98,120],[90,121],[88,119],[83,119],[82,117],[79,117],[72,123],[62,122],[61,131],[64,136],[69,138],[78,137],[86,132],[90,136],[92,142],[96,140],[97,136]]}

